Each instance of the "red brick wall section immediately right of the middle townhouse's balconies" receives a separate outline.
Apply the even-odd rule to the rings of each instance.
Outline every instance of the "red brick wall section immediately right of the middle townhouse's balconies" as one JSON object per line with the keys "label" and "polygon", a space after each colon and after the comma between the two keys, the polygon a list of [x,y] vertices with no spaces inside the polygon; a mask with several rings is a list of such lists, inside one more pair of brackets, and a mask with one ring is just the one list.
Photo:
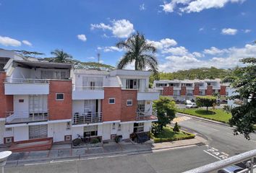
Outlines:
{"label": "red brick wall section immediately right of the middle townhouse's balconies", "polygon": [[[115,98],[115,104],[108,104],[109,98]],[[102,114],[103,121],[121,120],[121,87],[104,87]]]}

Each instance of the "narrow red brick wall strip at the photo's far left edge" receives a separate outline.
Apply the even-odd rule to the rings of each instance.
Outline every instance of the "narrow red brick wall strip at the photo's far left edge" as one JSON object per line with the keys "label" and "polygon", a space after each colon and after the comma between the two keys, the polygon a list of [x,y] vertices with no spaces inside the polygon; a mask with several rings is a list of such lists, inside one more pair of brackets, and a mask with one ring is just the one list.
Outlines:
{"label": "narrow red brick wall strip at the photo's far left edge", "polygon": [[4,94],[5,72],[0,72],[0,117],[5,117],[7,111],[13,111],[13,95]]}

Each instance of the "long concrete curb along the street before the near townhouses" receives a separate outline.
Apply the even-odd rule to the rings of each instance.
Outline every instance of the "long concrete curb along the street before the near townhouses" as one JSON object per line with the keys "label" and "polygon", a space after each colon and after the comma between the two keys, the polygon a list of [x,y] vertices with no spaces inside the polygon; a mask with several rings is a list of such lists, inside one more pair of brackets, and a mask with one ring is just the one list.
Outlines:
{"label": "long concrete curb along the street before the near townhouses", "polygon": [[204,144],[202,141],[198,143],[188,143],[182,144],[180,146],[168,146],[162,148],[148,148],[148,149],[141,149],[137,151],[118,151],[113,153],[104,153],[104,154],[87,154],[87,155],[77,155],[77,156],[64,156],[64,157],[51,157],[51,158],[41,158],[41,159],[24,159],[24,160],[15,160],[15,161],[7,161],[7,167],[21,167],[25,164],[46,164],[46,163],[53,163],[54,161],[71,161],[71,160],[81,160],[81,159],[93,159],[98,157],[108,157],[108,156],[123,156],[123,155],[136,155],[136,154],[150,154],[153,151],[159,151],[162,149],[171,149],[171,148],[180,148],[184,146],[196,146],[199,144]]}

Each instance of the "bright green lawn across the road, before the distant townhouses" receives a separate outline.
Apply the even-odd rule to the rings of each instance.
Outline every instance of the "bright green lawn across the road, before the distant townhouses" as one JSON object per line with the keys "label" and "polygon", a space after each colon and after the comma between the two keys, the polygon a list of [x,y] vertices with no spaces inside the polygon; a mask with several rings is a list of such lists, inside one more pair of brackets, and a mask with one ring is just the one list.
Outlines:
{"label": "bright green lawn across the road, before the distant townhouses", "polygon": [[179,109],[178,112],[216,120],[222,123],[228,123],[231,118],[231,113],[227,113],[224,110],[208,110],[208,112],[206,112],[206,110],[202,109]]}

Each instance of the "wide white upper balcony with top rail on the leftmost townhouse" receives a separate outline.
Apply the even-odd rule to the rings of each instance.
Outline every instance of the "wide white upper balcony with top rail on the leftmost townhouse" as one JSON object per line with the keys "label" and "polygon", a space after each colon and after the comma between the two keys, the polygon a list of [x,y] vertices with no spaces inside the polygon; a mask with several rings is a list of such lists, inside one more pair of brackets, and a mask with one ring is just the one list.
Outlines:
{"label": "wide white upper balcony with top rail on the leftmost townhouse", "polygon": [[7,78],[4,83],[4,94],[49,94],[49,81],[43,79]]}

